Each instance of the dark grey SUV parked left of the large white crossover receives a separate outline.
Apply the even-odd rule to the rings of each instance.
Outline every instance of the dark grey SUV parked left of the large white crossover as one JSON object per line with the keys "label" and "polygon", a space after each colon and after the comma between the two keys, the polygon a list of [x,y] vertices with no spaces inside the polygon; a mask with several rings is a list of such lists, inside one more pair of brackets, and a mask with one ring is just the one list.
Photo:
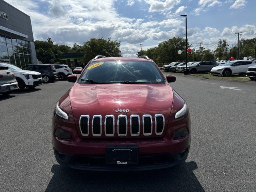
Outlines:
{"label": "dark grey SUV parked left of the large white crossover", "polygon": [[199,61],[190,65],[188,68],[190,70],[190,73],[193,74],[196,72],[210,72],[210,70],[215,66],[218,66],[218,65],[212,61]]}

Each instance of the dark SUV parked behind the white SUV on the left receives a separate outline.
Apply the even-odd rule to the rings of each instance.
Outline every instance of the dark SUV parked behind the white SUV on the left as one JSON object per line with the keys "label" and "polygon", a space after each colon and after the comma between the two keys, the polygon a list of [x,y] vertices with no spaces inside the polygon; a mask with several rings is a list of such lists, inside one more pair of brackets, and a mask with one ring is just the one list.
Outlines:
{"label": "dark SUV parked behind the white SUV on the left", "polygon": [[56,68],[52,64],[29,64],[24,66],[22,69],[39,72],[42,74],[44,83],[48,83],[58,78]]}

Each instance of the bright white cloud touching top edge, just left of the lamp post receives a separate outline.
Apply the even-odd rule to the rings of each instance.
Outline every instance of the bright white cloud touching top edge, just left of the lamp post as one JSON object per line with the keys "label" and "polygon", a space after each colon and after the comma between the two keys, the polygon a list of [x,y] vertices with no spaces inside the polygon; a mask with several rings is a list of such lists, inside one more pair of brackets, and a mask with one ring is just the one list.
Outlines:
{"label": "bright white cloud touching top edge, just left of the lamp post", "polygon": [[145,0],[145,2],[150,4],[148,12],[164,12],[178,5],[180,0]]}

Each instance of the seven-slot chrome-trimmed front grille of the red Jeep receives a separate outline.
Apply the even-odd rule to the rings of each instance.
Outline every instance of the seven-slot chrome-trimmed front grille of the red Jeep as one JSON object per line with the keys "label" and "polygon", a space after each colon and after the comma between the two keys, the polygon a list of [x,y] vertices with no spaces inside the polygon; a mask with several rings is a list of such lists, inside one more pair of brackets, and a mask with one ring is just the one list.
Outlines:
{"label": "seven-slot chrome-trimmed front grille of the red Jeep", "polygon": [[[155,135],[162,135],[164,132],[164,116],[162,114],[156,114],[153,118],[149,114],[142,116],[142,128],[140,126],[140,116],[131,115],[129,118],[130,128],[128,131],[128,118],[126,115],[118,115],[116,123],[117,130],[115,130],[115,116],[106,115],[103,123],[104,130],[103,135],[105,136],[151,136],[153,133]],[[154,120],[154,131],[153,131],[153,120]],[[91,124],[91,125],[90,125]],[[102,136],[102,116],[94,115],[90,119],[89,115],[81,115],[79,120],[79,128],[82,136],[89,136],[90,126],[92,130],[92,136]],[[142,129],[142,133],[140,130]],[[129,132],[129,133],[128,133]]]}

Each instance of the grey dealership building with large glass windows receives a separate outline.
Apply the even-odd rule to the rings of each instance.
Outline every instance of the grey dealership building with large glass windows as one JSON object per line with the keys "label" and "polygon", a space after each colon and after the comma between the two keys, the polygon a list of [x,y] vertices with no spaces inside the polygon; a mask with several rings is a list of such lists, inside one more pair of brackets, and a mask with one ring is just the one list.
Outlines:
{"label": "grey dealership building with large glass windows", "polygon": [[37,63],[30,16],[0,0],[0,60],[20,68]]}

